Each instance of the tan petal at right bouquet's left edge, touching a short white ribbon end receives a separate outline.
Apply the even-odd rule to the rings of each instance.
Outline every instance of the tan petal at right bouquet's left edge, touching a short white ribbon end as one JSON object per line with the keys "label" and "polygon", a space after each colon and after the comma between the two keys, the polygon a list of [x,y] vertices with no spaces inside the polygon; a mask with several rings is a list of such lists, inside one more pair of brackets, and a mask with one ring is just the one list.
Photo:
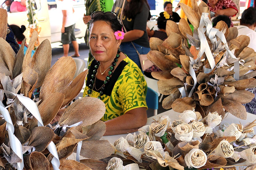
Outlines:
{"label": "tan petal at right bouquet's left edge, touching a short white ribbon end", "polygon": [[176,78],[171,78],[168,80],[159,80],[157,84],[158,84],[158,91],[164,95],[170,95],[173,92],[175,92],[173,88],[180,88],[184,86],[184,83],[181,80]]}

